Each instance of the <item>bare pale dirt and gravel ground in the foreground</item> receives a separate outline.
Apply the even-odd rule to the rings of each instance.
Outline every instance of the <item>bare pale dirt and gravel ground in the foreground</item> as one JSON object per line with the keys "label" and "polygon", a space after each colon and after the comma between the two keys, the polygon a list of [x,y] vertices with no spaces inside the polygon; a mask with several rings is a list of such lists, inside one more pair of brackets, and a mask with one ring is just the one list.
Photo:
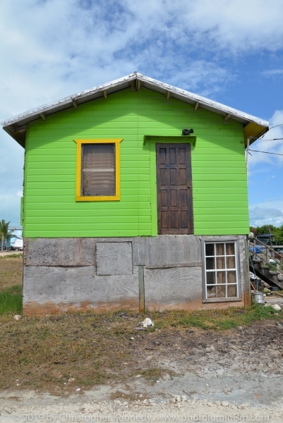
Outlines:
{"label": "bare pale dirt and gravel ground in the foreground", "polygon": [[[129,324],[131,319],[135,321],[130,318]],[[35,389],[27,384],[28,374],[12,372],[13,386],[0,391],[0,422],[68,421],[68,416],[73,416],[72,421],[102,417],[104,421],[127,421],[125,416],[136,421],[142,416],[144,420],[139,421],[155,422],[167,416],[167,421],[200,422],[232,416],[234,420],[218,421],[242,417],[241,421],[282,422],[282,319],[277,323],[257,321],[221,332],[195,328],[136,331],[134,339],[127,335],[117,343],[117,349],[124,348],[125,361],[117,355],[117,361],[104,369],[108,379],[95,387],[80,384],[80,360],[77,372],[71,374],[66,369],[64,373],[64,364],[57,364],[53,394],[50,381],[46,380],[45,389],[44,384]],[[29,368],[44,379],[47,367],[48,363]],[[115,420],[117,416],[122,417]]]}

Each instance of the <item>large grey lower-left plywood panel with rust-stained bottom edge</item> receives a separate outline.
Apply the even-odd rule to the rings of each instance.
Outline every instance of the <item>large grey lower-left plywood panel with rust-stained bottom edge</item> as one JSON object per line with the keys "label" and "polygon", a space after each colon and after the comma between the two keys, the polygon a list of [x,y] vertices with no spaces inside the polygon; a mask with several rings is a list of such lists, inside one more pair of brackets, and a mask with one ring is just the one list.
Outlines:
{"label": "large grey lower-left plywood panel with rust-stained bottom edge", "polygon": [[95,266],[25,266],[24,314],[138,309],[138,267],[132,275],[97,276]]}

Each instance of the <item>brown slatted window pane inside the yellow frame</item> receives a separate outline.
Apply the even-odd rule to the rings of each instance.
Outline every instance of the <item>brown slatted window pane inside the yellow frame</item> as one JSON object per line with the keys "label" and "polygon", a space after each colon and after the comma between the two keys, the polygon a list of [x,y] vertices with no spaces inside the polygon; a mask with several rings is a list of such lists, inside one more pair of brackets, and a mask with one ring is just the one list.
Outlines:
{"label": "brown slatted window pane inside the yellow frame", "polygon": [[81,195],[115,194],[115,145],[83,144]]}

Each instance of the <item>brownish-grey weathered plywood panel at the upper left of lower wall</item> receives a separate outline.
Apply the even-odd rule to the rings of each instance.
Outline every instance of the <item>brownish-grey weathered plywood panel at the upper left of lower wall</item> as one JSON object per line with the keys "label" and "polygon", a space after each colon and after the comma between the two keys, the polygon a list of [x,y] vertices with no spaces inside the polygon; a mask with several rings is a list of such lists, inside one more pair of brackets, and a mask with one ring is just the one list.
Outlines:
{"label": "brownish-grey weathered plywood panel at the upper left of lower wall", "polygon": [[95,266],[95,238],[25,238],[25,266]]}

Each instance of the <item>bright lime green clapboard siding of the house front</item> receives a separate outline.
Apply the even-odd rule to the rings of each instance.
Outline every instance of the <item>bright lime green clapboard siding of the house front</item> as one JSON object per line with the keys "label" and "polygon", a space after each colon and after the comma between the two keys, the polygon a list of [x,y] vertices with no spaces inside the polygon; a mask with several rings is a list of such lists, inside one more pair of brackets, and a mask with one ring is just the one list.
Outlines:
{"label": "bright lime green clapboard siding of the house front", "polygon": [[[25,237],[157,235],[155,145],[144,135],[193,128],[195,235],[248,233],[243,125],[141,88],[109,94],[28,125]],[[74,138],[123,138],[121,200],[76,202]]]}

